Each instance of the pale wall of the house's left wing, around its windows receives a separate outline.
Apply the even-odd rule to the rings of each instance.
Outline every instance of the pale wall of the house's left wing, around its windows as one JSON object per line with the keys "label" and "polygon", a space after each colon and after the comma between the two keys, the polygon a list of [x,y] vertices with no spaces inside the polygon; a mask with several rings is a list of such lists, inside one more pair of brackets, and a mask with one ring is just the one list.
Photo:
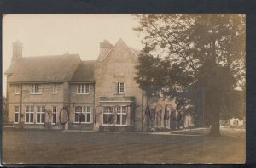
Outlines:
{"label": "pale wall of the house's left wing, around its windows", "polygon": [[[57,86],[57,93],[53,93],[53,84],[41,84],[42,93],[41,94],[31,94],[30,88],[31,84],[22,84],[22,93],[20,87],[20,93],[15,94],[15,85],[8,84],[8,106],[9,106],[9,122],[14,123],[15,120],[15,106],[19,106],[21,110],[21,114],[19,115],[19,123],[15,125],[20,125],[25,123],[25,112],[26,106],[34,106],[34,124],[26,124],[24,127],[45,127],[50,126],[53,128],[61,128],[60,124],[52,125],[51,122],[51,115],[53,106],[57,107],[57,123],[60,122],[59,114],[63,107],[67,106],[67,103],[64,102],[64,94],[66,94],[67,86],[63,83],[56,84]],[[21,97],[22,96],[22,97]],[[49,113],[45,113],[45,124],[38,124],[36,123],[37,115],[36,115],[36,108],[37,106],[44,106],[46,111]]]}

